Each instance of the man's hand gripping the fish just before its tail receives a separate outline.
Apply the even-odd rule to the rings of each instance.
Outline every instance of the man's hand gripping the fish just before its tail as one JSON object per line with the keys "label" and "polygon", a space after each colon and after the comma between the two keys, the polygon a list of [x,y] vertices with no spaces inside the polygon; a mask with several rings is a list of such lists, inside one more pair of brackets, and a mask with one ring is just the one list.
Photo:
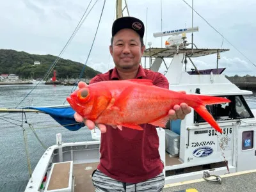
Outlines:
{"label": "man's hand gripping the fish just before its tail", "polygon": [[[181,91],[180,93],[186,94],[186,92]],[[181,103],[180,105],[173,106],[173,109],[169,111],[170,120],[184,119],[186,115],[191,112],[191,108],[186,103]]]}

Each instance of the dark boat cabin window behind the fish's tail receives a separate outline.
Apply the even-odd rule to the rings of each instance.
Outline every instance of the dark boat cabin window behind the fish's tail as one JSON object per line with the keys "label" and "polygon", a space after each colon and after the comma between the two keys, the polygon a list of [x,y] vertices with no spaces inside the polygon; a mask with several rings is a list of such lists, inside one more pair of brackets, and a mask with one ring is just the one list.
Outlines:
{"label": "dark boat cabin window behind the fish's tail", "polygon": [[[242,95],[231,95],[225,98],[231,100],[231,102],[205,106],[215,120],[231,120],[253,117],[252,111],[250,111],[250,108],[246,104]],[[205,122],[205,120],[195,112],[194,122],[200,123]]]}

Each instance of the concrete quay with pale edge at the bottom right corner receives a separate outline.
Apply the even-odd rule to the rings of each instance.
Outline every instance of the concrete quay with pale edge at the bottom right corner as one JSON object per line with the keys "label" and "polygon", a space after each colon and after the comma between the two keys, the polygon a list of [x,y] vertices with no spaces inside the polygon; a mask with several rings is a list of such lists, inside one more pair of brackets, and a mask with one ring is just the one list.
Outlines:
{"label": "concrete quay with pale edge at the bottom right corner", "polygon": [[220,175],[221,184],[204,179],[189,180],[164,186],[163,192],[255,192],[256,170]]}

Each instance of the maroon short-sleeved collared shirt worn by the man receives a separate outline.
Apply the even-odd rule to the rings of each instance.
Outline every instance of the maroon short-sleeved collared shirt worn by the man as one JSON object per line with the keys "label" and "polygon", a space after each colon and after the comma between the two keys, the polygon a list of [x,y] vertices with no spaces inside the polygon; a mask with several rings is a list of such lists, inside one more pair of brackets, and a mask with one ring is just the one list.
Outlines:
{"label": "maroon short-sleeved collared shirt worn by the man", "polygon": [[[166,77],[159,72],[140,66],[136,78],[151,79],[153,84],[169,88]],[[113,68],[105,74],[99,74],[90,84],[99,81],[118,80],[118,72]],[[101,134],[100,172],[121,182],[138,183],[156,177],[163,172],[164,165],[159,155],[159,138],[156,127],[141,125],[143,131],[122,127],[113,129],[107,125],[107,132]]]}

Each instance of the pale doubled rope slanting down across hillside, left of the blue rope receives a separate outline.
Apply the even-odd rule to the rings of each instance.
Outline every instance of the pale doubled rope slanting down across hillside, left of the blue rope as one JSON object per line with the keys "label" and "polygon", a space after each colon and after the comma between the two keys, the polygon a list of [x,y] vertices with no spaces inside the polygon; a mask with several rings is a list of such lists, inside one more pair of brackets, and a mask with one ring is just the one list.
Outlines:
{"label": "pale doubled rope slanting down across hillside, left of the blue rope", "polygon": [[[98,1],[98,0],[97,0]],[[97,3],[97,1],[95,1],[95,3],[93,4],[92,8],[95,6],[95,4]],[[74,38],[74,36],[76,35],[77,31],[81,28],[81,25],[83,24],[84,20],[86,19],[86,17],[88,17],[89,13],[92,11],[92,8],[90,9],[90,11],[88,12],[88,14],[86,15],[86,17],[84,17],[85,13],[87,12],[90,4],[92,3],[92,0],[90,1],[90,3],[88,4],[83,17],[81,17],[81,19],[79,20],[76,29],[73,31],[72,35],[70,36],[70,38],[68,39],[68,42],[65,44],[65,46],[63,47],[63,49],[61,50],[60,54],[58,55],[58,57],[56,58],[56,60],[52,63],[52,65],[49,67],[48,71],[46,72],[44,79],[47,79],[47,77],[49,76],[49,74],[51,73],[51,70],[56,66],[57,62],[60,60],[60,56],[63,54],[63,52],[65,51],[65,49],[67,49],[67,46],[70,44],[70,42],[72,41],[72,39]],[[82,20],[82,22],[81,22]],[[45,80],[46,81],[46,80]],[[28,97],[28,95],[33,92],[33,90],[35,90],[36,86],[38,86],[38,84],[40,83],[40,81],[38,81],[38,83],[36,83],[35,87],[24,97],[24,99],[22,99],[19,104],[16,106],[16,108]],[[15,108],[15,109],[16,109]]]}

